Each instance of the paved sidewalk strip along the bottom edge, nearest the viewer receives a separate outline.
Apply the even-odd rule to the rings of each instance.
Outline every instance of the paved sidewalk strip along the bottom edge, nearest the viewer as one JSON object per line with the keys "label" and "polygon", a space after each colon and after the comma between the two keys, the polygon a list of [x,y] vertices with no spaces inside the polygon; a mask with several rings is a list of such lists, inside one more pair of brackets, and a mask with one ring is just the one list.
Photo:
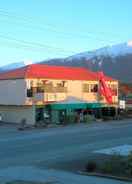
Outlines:
{"label": "paved sidewalk strip along the bottom edge, nearest the viewer", "polygon": [[40,170],[35,167],[10,167],[0,170],[0,181],[25,180],[53,184],[129,184],[92,176],[82,176],[57,170]]}

